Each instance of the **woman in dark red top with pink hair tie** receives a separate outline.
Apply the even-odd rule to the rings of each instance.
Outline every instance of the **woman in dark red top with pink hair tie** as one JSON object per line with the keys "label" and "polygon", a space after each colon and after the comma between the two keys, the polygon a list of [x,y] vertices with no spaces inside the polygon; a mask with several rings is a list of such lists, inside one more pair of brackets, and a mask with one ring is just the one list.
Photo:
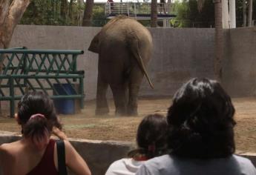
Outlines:
{"label": "woman in dark red top with pink hair tie", "polygon": [[[42,92],[24,95],[15,116],[22,126],[22,139],[0,146],[0,163],[7,175],[57,175],[56,142],[50,139],[53,127],[61,138],[65,134],[56,116],[52,100]],[[59,128],[59,129],[57,129]],[[68,141],[65,144],[65,164],[75,174],[91,174],[88,165]]]}

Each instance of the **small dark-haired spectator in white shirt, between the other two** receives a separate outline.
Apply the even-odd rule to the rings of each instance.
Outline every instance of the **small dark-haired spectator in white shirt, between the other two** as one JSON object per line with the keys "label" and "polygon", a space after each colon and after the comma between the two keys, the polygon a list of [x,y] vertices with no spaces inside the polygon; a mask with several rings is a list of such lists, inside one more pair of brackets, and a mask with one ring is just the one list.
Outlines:
{"label": "small dark-haired spectator in white shirt, between the other two", "polygon": [[128,153],[125,159],[112,163],[105,175],[132,175],[145,160],[167,153],[167,121],[165,116],[151,114],[140,122],[137,131],[138,148]]}

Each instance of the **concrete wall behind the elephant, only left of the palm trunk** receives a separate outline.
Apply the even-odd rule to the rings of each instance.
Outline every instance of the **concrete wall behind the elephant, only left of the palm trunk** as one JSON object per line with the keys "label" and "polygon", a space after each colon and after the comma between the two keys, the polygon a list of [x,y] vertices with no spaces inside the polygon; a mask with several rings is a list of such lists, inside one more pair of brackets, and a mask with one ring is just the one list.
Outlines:
{"label": "concrete wall behind the elephant, only left of the palm trunk", "polygon": [[[98,55],[87,49],[99,30],[99,27],[19,25],[10,47],[85,50],[78,66],[85,70],[85,99],[95,99]],[[141,96],[172,96],[191,77],[213,77],[214,29],[151,28],[150,31],[154,54],[148,74],[154,90],[144,81]]]}

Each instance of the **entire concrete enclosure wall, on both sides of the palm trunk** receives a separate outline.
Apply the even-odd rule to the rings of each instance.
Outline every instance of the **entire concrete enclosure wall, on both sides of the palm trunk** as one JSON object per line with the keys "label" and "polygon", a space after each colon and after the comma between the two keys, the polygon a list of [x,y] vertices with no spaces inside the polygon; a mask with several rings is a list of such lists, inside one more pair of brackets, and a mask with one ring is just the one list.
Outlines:
{"label": "entire concrete enclosure wall, on both sides of the palm trunk", "polygon": [[[85,70],[85,100],[95,99],[98,55],[87,49],[99,30],[99,27],[19,25],[10,47],[85,50],[85,54],[78,59],[78,66]],[[149,30],[153,37],[154,54],[147,69],[154,90],[144,79],[140,96],[172,96],[191,77],[213,78],[214,29]],[[224,31],[223,85],[232,96],[255,96],[255,56],[256,27]]]}

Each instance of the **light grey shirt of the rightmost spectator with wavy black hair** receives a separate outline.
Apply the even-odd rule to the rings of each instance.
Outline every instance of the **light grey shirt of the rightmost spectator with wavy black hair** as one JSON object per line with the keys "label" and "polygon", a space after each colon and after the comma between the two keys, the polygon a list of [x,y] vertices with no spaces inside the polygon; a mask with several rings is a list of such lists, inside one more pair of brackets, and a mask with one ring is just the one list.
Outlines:
{"label": "light grey shirt of the rightmost spectator with wavy black hair", "polygon": [[256,175],[256,169],[249,159],[235,155],[223,159],[164,155],[144,162],[136,175]]}

